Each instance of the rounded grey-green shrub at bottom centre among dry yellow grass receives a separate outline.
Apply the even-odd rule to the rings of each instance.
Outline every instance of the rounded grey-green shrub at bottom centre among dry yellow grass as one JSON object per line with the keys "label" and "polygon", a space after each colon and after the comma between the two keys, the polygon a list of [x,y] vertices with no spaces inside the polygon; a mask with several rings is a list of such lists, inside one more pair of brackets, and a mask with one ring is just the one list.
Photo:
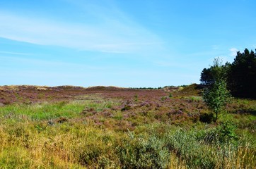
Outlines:
{"label": "rounded grey-green shrub at bottom centre among dry yellow grass", "polygon": [[117,146],[117,153],[122,168],[167,168],[170,161],[165,142],[154,135],[147,138],[128,132]]}

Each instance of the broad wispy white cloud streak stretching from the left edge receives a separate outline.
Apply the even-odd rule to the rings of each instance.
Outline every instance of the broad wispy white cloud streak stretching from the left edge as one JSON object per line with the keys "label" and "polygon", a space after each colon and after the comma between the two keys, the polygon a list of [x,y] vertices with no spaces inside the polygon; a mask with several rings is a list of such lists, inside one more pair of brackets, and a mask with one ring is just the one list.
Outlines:
{"label": "broad wispy white cloud streak stretching from the left edge", "polygon": [[[68,23],[0,12],[0,37],[41,45],[65,46],[89,51],[133,53],[161,48],[163,42],[122,11],[97,4],[81,8],[95,23]],[[95,12],[97,11],[97,12]]]}

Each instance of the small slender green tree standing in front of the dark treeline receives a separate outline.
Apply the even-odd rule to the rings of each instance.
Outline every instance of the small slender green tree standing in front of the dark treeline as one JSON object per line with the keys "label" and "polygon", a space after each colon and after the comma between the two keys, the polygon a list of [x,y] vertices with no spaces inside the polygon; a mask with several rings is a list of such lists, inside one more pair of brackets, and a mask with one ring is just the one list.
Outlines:
{"label": "small slender green tree standing in front of the dark treeline", "polygon": [[[221,77],[221,62],[217,60],[214,61],[214,69],[216,71],[216,79],[213,84],[206,87],[203,92],[203,99],[206,105],[213,111],[216,115],[216,120],[218,120],[218,115],[223,111],[223,107],[231,101],[231,94],[227,89],[226,79]],[[220,72],[218,72],[220,71]]]}

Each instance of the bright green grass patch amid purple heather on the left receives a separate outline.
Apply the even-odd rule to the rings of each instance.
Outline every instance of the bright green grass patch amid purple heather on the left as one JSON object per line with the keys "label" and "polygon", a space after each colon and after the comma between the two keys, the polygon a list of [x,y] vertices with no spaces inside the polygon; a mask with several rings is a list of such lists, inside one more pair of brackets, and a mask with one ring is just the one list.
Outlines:
{"label": "bright green grass patch amid purple heather on the left", "polygon": [[29,118],[31,120],[50,120],[53,118],[65,117],[75,118],[84,108],[95,108],[96,111],[103,111],[104,108],[111,108],[117,105],[113,101],[61,101],[58,103],[38,104],[11,104],[0,107],[1,116],[11,119]]}

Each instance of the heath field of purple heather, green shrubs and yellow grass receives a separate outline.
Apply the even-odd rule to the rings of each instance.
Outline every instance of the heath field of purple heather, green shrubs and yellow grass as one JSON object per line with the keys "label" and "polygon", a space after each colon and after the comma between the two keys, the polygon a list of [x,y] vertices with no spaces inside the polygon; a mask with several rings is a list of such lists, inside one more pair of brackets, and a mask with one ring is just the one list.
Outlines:
{"label": "heath field of purple heather, green shrubs and yellow grass", "polygon": [[202,86],[0,87],[0,168],[256,168],[256,100]]}

